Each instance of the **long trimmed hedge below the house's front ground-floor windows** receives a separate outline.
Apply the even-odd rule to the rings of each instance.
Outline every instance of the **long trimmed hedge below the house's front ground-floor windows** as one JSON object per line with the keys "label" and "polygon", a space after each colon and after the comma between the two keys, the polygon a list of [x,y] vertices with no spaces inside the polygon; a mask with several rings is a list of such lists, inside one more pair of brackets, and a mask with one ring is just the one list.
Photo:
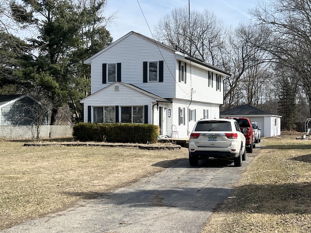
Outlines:
{"label": "long trimmed hedge below the house's front ground-floor windows", "polygon": [[156,143],[159,128],[151,124],[77,123],[72,135],[79,141]]}

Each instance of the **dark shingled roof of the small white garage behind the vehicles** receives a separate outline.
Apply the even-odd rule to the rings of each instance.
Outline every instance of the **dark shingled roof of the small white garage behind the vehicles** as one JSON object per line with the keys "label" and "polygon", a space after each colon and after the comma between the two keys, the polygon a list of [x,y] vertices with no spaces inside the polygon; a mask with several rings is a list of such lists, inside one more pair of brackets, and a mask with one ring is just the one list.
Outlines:
{"label": "dark shingled roof of the small white garage behind the vehicles", "polygon": [[273,113],[269,113],[266,111],[263,111],[259,108],[255,108],[249,104],[244,104],[232,109],[225,110],[220,113],[221,116],[247,116],[247,115],[275,115]]}

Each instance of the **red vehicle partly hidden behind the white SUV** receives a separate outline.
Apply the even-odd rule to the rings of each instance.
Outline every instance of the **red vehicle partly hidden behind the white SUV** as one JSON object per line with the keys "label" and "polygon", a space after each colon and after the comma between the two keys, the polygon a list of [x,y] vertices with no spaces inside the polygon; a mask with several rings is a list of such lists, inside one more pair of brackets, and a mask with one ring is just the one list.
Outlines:
{"label": "red vehicle partly hidden behind the white SUV", "polygon": [[[252,126],[252,122],[247,117],[224,117],[231,118],[238,121],[241,132],[244,134],[246,139],[246,151],[248,153],[253,152],[253,148],[255,148],[255,129]],[[243,130],[244,129],[244,130]]]}

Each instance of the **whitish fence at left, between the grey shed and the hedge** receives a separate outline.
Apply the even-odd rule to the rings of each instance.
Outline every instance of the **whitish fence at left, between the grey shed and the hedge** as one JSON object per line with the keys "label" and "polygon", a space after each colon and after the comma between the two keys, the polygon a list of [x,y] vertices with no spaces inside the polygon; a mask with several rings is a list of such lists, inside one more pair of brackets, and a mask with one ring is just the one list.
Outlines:
{"label": "whitish fence at left, between the grey shed and the hedge", "polygon": [[0,140],[72,137],[73,125],[0,125]]}

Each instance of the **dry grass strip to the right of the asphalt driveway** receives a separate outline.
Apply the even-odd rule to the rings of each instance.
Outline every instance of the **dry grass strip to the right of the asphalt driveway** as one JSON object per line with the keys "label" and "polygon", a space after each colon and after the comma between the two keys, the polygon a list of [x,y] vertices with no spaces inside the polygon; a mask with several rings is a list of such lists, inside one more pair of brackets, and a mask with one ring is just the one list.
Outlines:
{"label": "dry grass strip to the right of the asphalt driveway", "polygon": [[202,233],[310,233],[311,140],[262,139],[259,155]]}

